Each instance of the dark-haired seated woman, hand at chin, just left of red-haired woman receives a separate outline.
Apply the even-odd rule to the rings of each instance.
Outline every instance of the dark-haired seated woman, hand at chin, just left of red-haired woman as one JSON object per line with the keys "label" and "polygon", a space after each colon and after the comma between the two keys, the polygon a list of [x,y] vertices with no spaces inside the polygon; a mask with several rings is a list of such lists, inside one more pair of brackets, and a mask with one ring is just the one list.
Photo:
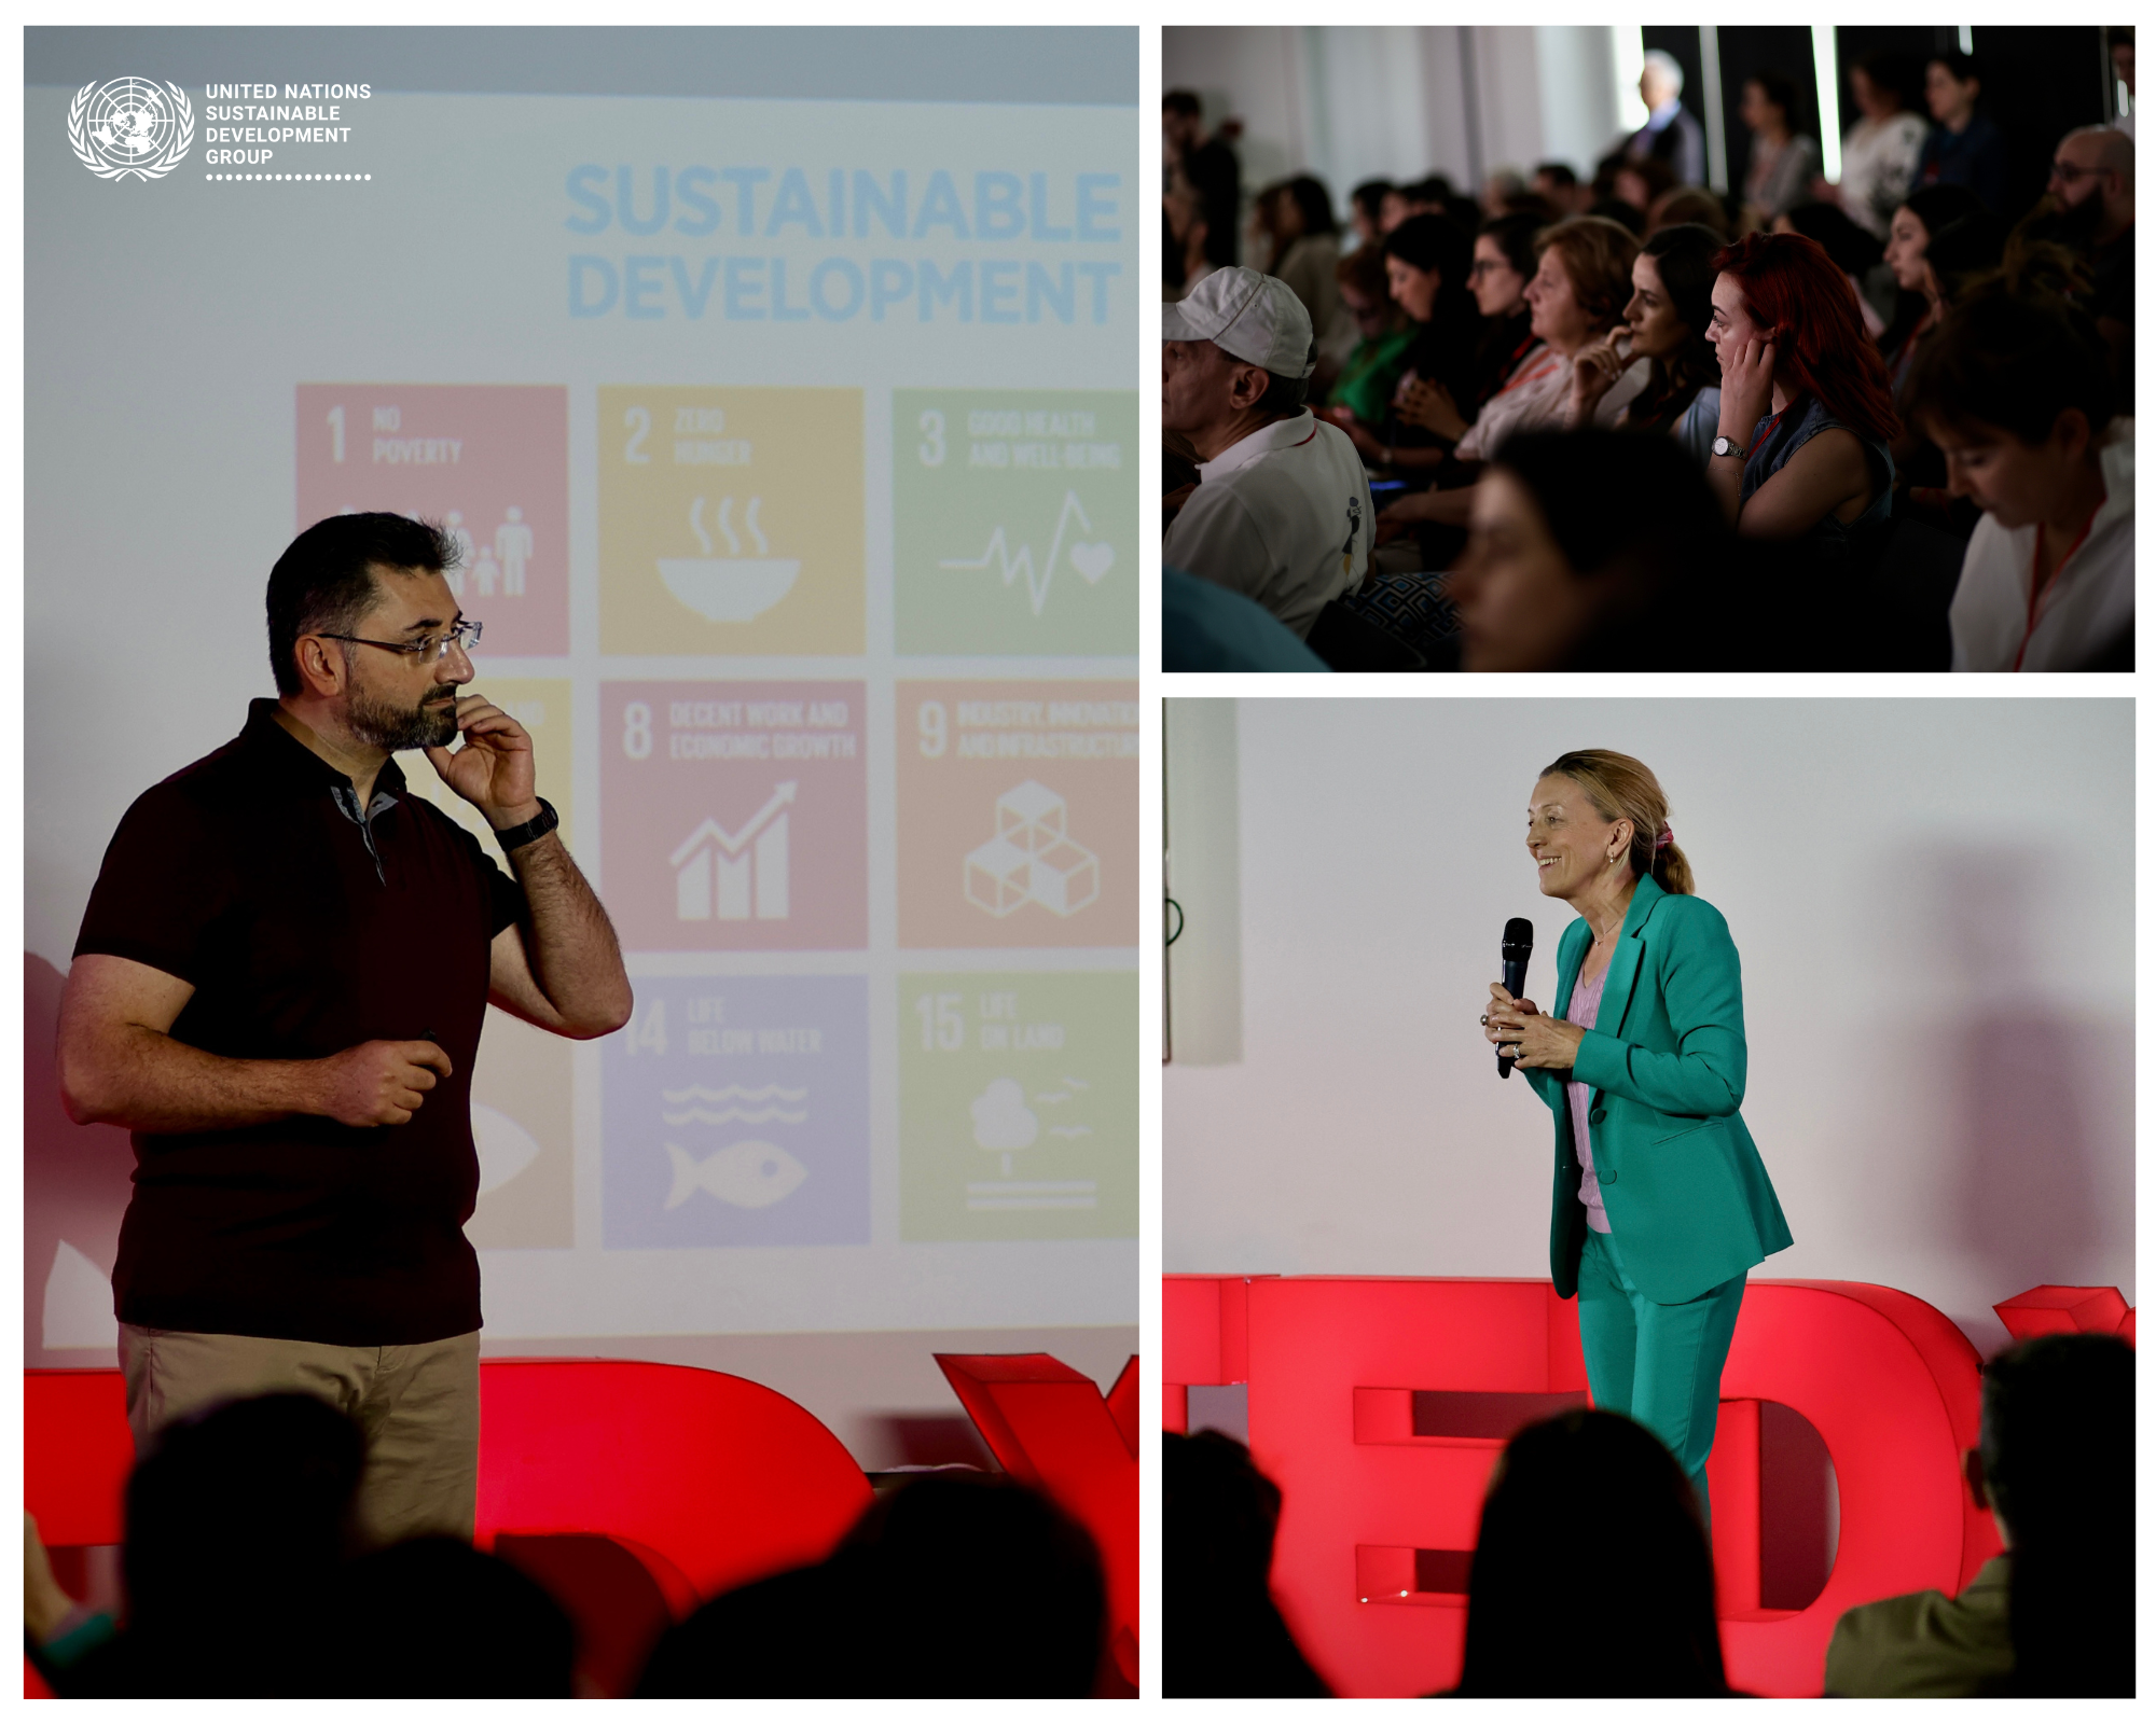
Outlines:
{"label": "dark-haired seated woman, hand at chin, just left of red-haired woman", "polygon": [[[1617,414],[1628,431],[1671,431],[1708,384],[1720,381],[1708,319],[1714,315],[1712,228],[1662,228],[1632,259],[1626,321],[1580,349],[1572,366],[1570,425],[1587,425],[1628,366],[1645,364],[1639,394]],[[1701,450],[1705,442],[1701,440]],[[1705,455],[1701,453],[1701,463]]]}

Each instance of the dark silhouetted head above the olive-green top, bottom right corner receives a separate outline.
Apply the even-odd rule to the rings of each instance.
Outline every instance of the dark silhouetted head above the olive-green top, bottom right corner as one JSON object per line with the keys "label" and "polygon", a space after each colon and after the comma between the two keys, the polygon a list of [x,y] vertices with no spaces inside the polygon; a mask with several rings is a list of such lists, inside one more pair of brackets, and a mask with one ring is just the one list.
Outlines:
{"label": "dark silhouetted head above the olive-green top, bottom right corner", "polygon": [[1968,1483],[2014,1558],[2012,1690],[2134,1692],[2134,1353],[2046,1334],[1984,1366]]}

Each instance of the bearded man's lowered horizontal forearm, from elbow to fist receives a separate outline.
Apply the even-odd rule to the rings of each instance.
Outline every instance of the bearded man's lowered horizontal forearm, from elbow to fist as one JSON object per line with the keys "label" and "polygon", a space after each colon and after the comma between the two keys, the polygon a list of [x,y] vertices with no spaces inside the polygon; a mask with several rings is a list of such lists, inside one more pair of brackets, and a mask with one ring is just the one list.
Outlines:
{"label": "bearded man's lowered horizontal forearm, from elbow to fist", "polygon": [[60,1065],[75,1125],[129,1131],[216,1131],[321,1108],[319,1060],[226,1060],[140,1024],[101,1034]]}

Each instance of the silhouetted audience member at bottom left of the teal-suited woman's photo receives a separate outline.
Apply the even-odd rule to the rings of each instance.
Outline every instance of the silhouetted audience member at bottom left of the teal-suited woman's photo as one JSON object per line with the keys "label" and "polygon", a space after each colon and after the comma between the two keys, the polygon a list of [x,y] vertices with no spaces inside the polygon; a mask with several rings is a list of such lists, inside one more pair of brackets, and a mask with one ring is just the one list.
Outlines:
{"label": "silhouetted audience member at bottom left of the teal-suited woman's photo", "polygon": [[1160,1692],[1324,1698],[1272,1601],[1281,1487],[1218,1431],[1160,1437]]}

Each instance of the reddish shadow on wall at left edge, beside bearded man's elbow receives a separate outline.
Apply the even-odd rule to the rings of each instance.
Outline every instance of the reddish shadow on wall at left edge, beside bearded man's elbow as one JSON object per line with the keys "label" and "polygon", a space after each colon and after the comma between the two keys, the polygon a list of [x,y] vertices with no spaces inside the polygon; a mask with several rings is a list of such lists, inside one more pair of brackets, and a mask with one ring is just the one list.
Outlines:
{"label": "reddish shadow on wall at left edge, beside bearded man's elbow", "polygon": [[67,976],[34,953],[22,963],[22,1358],[28,1366],[110,1364],[112,1256],[134,1177],[116,1125],[75,1125],[60,1106],[58,1026]]}

